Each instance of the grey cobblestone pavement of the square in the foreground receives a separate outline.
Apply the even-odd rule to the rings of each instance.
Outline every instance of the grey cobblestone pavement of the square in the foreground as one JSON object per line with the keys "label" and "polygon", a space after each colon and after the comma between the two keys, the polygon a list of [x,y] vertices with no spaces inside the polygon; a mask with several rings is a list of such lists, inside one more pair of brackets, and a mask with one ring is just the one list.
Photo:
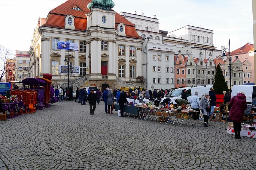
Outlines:
{"label": "grey cobblestone pavement of the square in the foreground", "polygon": [[166,125],[105,114],[104,103],[52,104],[0,122],[5,169],[255,169],[255,139],[235,139],[227,123]]}

